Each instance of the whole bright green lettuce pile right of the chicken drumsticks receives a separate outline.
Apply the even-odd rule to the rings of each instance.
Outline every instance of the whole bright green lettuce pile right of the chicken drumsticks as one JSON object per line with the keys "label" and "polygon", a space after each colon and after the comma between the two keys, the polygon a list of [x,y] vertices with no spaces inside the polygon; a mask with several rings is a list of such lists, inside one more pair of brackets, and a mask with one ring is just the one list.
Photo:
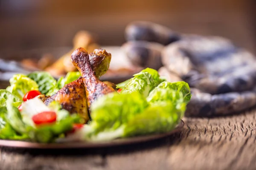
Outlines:
{"label": "whole bright green lettuce pile right of the chicken drumsticks", "polygon": [[87,140],[168,132],[178,124],[191,98],[186,82],[166,82],[151,68],[123,84],[121,94],[107,94],[92,104],[92,122],[84,127]]}

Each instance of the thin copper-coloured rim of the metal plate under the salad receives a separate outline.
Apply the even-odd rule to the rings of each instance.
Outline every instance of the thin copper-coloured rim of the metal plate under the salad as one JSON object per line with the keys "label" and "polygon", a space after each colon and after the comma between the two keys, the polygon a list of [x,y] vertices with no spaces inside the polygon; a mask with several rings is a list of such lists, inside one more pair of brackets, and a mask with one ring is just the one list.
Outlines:
{"label": "thin copper-coloured rim of the metal plate under the salad", "polygon": [[71,148],[99,148],[99,147],[114,147],[120,145],[137,144],[142,142],[148,142],[156,139],[168,137],[182,129],[184,126],[183,120],[177,125],[177,127],[167,133],[148,135],[148,136],[137,136],[126,139],[116,139],[109,142],[67,142],[67,143],[50,143],[41,144],[34,142],[24,141],[12,141],[12,140],[0,140],[0,146],[2,147],[14,147],[14,148],[28,148],[28,149],[71,149]]}

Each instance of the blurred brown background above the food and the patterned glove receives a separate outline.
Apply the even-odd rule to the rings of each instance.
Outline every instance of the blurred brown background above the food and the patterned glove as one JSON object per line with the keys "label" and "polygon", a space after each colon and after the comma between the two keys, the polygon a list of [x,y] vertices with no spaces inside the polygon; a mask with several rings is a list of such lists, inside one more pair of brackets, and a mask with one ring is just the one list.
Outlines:
{"label": "blurred brown background above the food and the patterned glove", "polygon": [[122,45],[134,20],[219,35],[256,52],[255,0],[0,0],[0,50],[72,46],[77,31]]}

